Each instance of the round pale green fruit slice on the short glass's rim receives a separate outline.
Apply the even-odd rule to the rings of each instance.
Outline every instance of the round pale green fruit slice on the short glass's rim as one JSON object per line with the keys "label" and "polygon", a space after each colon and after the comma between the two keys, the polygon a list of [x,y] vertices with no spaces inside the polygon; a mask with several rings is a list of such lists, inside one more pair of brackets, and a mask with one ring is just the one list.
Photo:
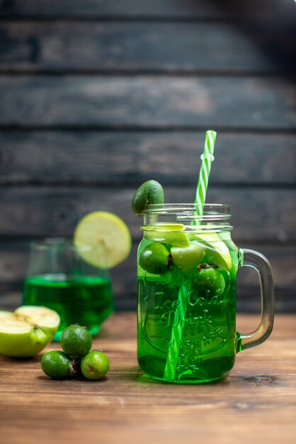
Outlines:
{"label": "round pale green fruit slice on the short glass's rim", "polygon": [[74,231],[74,245],[93,267],[115,267],[130,254],[132,240],[125,222],[108,211],[86,214]]}

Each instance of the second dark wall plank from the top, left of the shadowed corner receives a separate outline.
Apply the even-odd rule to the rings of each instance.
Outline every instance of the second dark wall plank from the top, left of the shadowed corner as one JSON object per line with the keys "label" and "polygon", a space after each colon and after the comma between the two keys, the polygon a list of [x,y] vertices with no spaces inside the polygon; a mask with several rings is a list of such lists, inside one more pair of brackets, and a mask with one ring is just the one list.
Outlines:
{"label": "second dark wall plank from the top, left of the shadowed corner", "polygon": [[0,36],[0,70],[280,72],[260,38],[229,23],[14,21],[0,24]]}

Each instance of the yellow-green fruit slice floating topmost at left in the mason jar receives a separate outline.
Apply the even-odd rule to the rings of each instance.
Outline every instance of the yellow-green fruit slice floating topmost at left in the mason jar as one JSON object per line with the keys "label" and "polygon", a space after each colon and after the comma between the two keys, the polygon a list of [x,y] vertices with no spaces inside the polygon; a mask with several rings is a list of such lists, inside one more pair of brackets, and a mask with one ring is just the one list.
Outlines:
{"label": "yellow-green fruit slice floating topmost at left in the mason jar", "polygon": [[181,233],[183,223],[159,223],[154,226],[144,226],[144,238],[154,242],[166,243],[173,247],[188,247],[190,242],[186,233]]}

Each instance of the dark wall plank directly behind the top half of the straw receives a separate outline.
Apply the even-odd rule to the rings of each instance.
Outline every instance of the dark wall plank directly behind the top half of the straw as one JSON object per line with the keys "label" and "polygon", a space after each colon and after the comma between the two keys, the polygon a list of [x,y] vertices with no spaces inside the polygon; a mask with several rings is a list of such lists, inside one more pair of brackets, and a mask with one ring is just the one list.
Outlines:
{"label": "dark wall plank directly behind the top half of the straw", "polygon": [[[0,138],[1,184],[72,182],[100,186],[124,182],[135,186],[153,172],[161,184],[188,184],[194,189],[197,152],[203,146],[205,134],[203,131],[0,131]],[[296,184],[294,133],[220,131],[217,143],[219,150],[215,152],[210,187]]]}

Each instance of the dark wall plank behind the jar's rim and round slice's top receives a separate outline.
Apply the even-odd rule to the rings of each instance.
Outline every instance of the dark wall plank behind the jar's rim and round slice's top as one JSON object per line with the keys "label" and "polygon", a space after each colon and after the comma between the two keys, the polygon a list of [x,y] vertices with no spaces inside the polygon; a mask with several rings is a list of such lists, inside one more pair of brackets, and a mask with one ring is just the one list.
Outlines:
{"label": "dark wall plank behind the jar's rim and round slice's top", "polygon": [[[193,201],[193,190],[194,187],[166,187],[166,202]],[[142,218],[130,209],[134,192],[131,187],[2,187],[0,236],[71,236],[79,219],[99,206],[118,213],[133,238],[140,240]],[[235,240],[288,242],[296,239],[295,221],[290,217],[295,213],[295,194],[295,189],[285,188],[212,187],[207,201],[230,204]]]}

